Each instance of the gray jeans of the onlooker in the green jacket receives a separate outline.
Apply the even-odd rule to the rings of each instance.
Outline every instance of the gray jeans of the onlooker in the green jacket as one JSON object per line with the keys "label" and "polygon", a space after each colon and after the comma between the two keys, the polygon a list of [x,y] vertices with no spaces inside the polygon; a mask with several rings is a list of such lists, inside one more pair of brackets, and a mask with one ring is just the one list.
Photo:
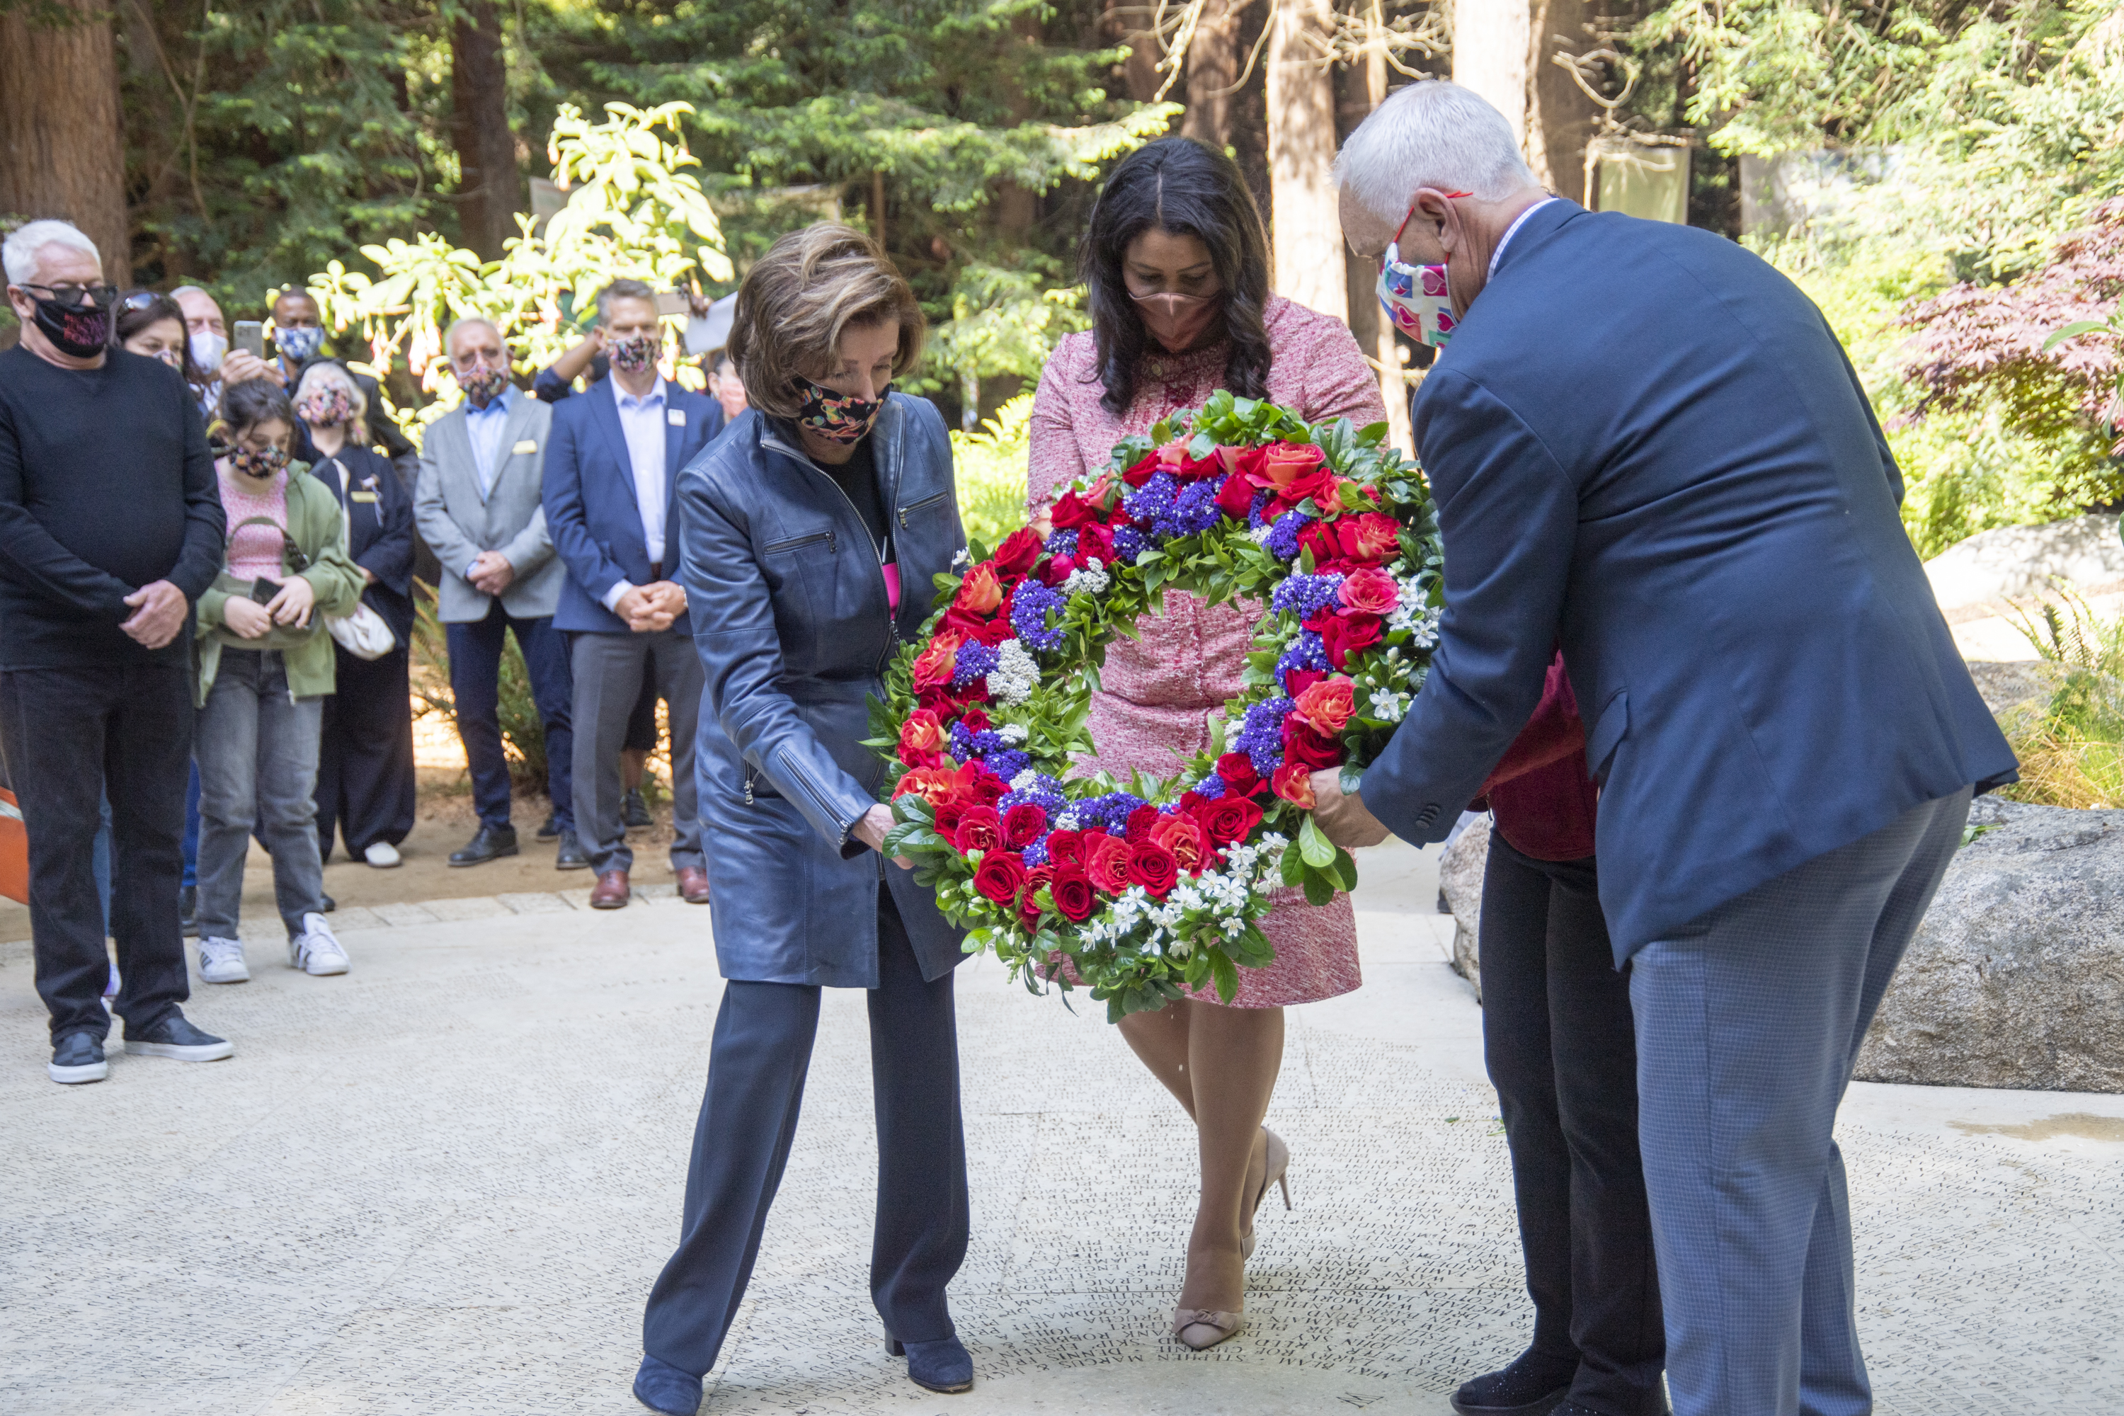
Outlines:
{"label": "gray jeans of the onlooker in the green jacket", "polygon": [[200,938],[236,938],[244,856],[257,828],[272,851],[272,892],[287,936],[325,909],[316,856],[316,743],[323,698],[289,698],[274,650],[221,650],[200,709]]}

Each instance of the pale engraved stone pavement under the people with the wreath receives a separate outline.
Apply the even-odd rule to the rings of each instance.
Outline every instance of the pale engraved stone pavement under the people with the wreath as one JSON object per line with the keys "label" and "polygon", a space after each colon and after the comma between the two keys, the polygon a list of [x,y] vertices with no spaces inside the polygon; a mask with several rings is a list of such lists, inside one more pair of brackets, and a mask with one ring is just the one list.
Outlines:
{"label": "pale engraved stone pavement under the people with the wreath", "polygon": [[[1194,1140],[1094,1006],[960,970],[979,1369],[922,1393],[867,1295],[862,998],[826,994],[805,1117],[707,1412],[1436,1416],[1529,1308],[1478,1011],[1429,856],[1364,862],[1366,987],[1291,1011],[1247,1331],[1164,1335]],[[45,1078],[30,947],[0,945],[0,1412],[610,1414],[678,1236],[720,981],[669,887],[344,911],[355,968],[253,936],[195,985],[232,1061]],[[117,1030],[113,1032],[117,1042]],[[2124,1405],[2124,1098],[1854,1087],[1842,1123],[1882,1412]]]}

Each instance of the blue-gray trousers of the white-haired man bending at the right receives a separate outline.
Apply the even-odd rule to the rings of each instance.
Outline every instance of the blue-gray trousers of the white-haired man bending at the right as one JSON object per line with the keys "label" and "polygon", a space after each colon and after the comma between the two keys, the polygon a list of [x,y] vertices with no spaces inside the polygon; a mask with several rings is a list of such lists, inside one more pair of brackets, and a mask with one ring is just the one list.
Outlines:
{"label": "blue-gray trousers of the white-haired man bending at the right", "polygon": [[1865,1416],[1831,1132],[1969,788],[1640,949],[1638,1136],[1676,1416]]}

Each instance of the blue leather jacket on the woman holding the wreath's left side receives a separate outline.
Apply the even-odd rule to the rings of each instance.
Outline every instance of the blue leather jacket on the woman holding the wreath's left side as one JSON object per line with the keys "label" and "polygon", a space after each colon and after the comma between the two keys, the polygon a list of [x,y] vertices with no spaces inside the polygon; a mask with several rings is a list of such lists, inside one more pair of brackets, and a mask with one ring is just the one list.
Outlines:
{"label": "blue leather jacket on the woman holding the wreath's left side", "polygon": [[[567,408],[563,403],[561,408]],[[707,684],[695,752],[724,979],[877,987],[877,892],[924,979],[966,955],[937,892],[850,836],[886,764],[862,745],[892,654],[966,546],[952,437],[894,393],[871,429],[901,567],[894,614],[869,529],[796,433],[748,408],[680,476],[686,599]]]}

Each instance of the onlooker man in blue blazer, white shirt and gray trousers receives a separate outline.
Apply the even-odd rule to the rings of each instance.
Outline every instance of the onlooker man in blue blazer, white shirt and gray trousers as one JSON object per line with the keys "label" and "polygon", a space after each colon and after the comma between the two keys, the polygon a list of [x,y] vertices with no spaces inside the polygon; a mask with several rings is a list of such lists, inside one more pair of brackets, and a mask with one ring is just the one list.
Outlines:
{"label": "onlooker man in blue blazer, white shirt and gray trousers", "polygon": [[567,565],[554,626],[576,671],[576,830],[590,856],[593,909],[622,909],[635,864],[627,847],[620,745],[652,675],[671,720],[671,870],[688,904],[707,902],[707,860],[692,775],[701,658],[692,650],[680,535],[678,471],[722,431],[716,399],[665,382],[663,321],[641,280],[597,295],[612,374],[554,405],[546,454],[546,529]]}

